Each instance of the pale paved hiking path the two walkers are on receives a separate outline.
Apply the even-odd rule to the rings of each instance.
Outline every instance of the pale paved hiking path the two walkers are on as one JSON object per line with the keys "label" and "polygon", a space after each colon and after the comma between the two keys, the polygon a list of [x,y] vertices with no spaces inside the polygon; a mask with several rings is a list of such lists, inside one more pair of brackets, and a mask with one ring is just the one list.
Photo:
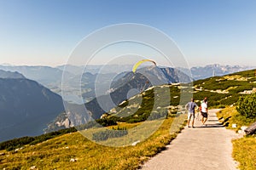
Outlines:
{"label": "pale paved hiking path the two walkers are on", "polygon": [[231,140],[240,135],[218,122],[217,111],[209,111],[207,126],[195,118],[195,128],[185,127],[166,150],[145,162],[141,169],[237,169],[238,164],[231,156]]}

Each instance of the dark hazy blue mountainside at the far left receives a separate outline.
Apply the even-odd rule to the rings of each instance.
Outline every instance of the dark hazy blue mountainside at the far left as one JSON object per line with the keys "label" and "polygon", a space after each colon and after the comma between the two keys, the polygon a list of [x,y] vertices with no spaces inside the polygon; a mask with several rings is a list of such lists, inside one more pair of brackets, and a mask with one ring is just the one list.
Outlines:
{"label": "dark hazy blue mountainside at the far left", "polygon": [[60,95],[20,73],[0,71],[0,141],[42,134],[63,111]]}

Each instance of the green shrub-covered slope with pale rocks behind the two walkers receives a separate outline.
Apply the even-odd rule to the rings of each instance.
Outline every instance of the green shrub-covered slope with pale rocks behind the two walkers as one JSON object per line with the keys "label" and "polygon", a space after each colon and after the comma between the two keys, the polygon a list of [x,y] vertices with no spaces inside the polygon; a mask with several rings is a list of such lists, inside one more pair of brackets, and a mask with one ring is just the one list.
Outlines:
{"label": "green shrub-covered slope with pale rocks behind the two walkers", "polygon": [[[210,107],[216,108],[224,107],[225,105],[233,105],[241,95],[245,95],[240,94],[241,92],[256,88],[256,77],[253,70],[241,71],[224,77],[210,77],[204,80],[198,80],[193,84],[194,90],[184,88],[189,87],[188,84],[182,84],[182,86],[166,85],[148,89],[145,93],[137,95],[116,107],[114,112],[110,111],[108,119],[118,122],[142,122],[148,118],[148,114],[150,114],[151,111],[156,111],[158,114],[166,114],[166,106],[172,105],[174,108],[175,106],[177,108],[177,105],[181,105],[180,102],[184,105],[188,102],[187,100],[190,99],[189,94],[192,92],[198,105],[200,105],[200,101],[205,97],[208,98],[208,106]],[[180,99],[181,91],[186,101]],[[171,98],[167,96],[169,92]],[[160,98],[155,97],[155,94],[160,94]],[[169,102],[170,99],[171,102]],[[154,101],[156,101],[157,106],[160,106],[162,110],[153,106]],[[139,103],[141,103],[141,105],[137,105]],[[177,110],[173,109],[172,111],[175,112]]]}

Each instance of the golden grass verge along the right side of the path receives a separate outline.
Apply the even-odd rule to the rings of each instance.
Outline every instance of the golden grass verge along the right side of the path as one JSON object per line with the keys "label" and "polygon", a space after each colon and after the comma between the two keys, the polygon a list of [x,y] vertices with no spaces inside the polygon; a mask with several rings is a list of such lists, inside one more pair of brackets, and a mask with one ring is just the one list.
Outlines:
{"label": "golden grass verge along the right side of the path", "polygon": [[[227,107],[223,111],[218,112],[219,119],[224,123],[227,128],[238,130],[241,126],[248,126],[255,119],[246,119],[240,116],[236,111],[236,107]],[[232,128],[232,124],[237,124],[236,128]],[[256,169],[256,137],[247,136],[241,139],[234,139],[233,141],[233,154],[232,156],[236,161],[240,162],[241,170],[254,170]]]}

